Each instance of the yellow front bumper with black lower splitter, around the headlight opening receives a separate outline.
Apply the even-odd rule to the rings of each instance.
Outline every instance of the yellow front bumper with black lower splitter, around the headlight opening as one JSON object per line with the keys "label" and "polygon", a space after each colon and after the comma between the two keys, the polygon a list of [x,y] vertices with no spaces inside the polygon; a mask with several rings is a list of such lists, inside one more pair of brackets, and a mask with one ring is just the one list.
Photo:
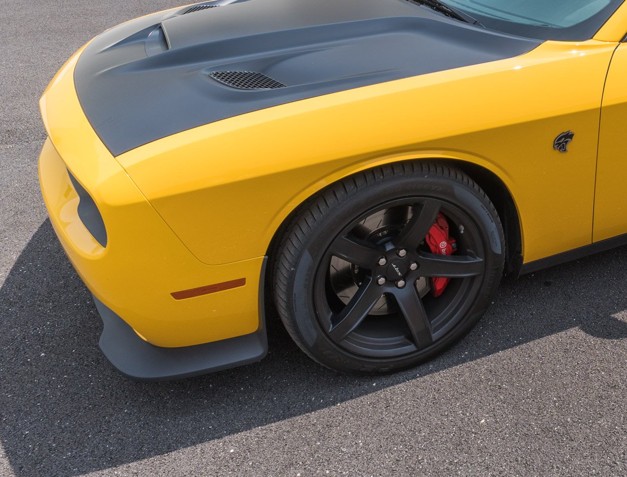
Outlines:
{"label": "yellow front bumper with black lower splitter, around the headlight opening", "polygon": [[[206,265],[189,252],[102,144],[83,114],[73,83],[78,55],[80,51],[60,70],[41,99],[49,139],[41,151],[40,184],[61,245],[95,297],[105,321],[104,342],[110,342],[107,329],[112,329],[111,323],[116,321],[111,316],[121,317],[127,325],[125,328],[118,321],[120,326],[113,328],[132,330],[132,336],[139,340],[130,339],[130,332],[123,333],[126,338],[122,339],[117,331],[113,335],[118,336],[119,343],[102,346],[101,340],[103,351],[122,373],[143,379],[182,377],[228,367],[228,356],[219,351],[229,350],[228,341],[219,346],[205,343],[246,335],[256,337],[255,345],[249,343],[248,356],[233,358],[231,365],[263,358],[266,340],[259,296],[263,289],[264,257]],[[104,247],[78,215],[80,199],[70,173],[102,215],[107,233]],[[172,296],[177,291],[235,280],[244,282],[242,279],[245,284],[233,289],[187,299]],[[131,349],[120,351],[122,342]],[[189,359],[182,360],[180,351],[159,349],[197,345],[204,347],[184,354],[213,353],[213,358],[207,355],[202,363],[192,365]],[[140,353],[140,348],[151,351]],[[204,351],[201,353],[200,349]],[[124,353],[127,360],[122,366],[120,356]],[[233,354],[232,350],[228,353]],[[167,356],[179,364],[186,362],[187,368],[166,366]],[[213,365],[209,363],[212,359]],[[154,363],[147,367],[150,360]],[[134,366],[129,367],[129,363]],[[161,374],[159,367],[163,369]],[[175,368],[177,372],[172,372]]]}

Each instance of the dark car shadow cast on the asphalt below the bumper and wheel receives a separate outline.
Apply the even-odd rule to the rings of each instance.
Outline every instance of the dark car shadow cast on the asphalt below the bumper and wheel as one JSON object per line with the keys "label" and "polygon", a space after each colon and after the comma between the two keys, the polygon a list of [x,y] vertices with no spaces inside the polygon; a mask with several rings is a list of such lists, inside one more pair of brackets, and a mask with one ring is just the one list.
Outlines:
{"label": "dark car shadow cast on the asphalt below the bumper and wheel", "polygon": [[270,311],[270,352],[260,363],[137,383],[100,353],[100,318],[46,221],[0,289],[2,446],[18,476],[83,474],[319,410],[569,328],[623,339],[625,263],[627,247],[507,278],[470,336],[394,375],[354,377],[320,367]]}

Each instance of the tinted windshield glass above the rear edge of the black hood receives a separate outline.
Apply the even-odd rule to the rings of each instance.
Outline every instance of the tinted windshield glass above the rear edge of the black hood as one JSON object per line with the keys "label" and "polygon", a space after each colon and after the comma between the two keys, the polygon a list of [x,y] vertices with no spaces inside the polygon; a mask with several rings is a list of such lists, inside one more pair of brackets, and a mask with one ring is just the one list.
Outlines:
{"label": "tinted windshield glass above the rear edge of the black hood", "polygon": [[487,28],[543,40],[584,41],[624,0],[445,0]]}

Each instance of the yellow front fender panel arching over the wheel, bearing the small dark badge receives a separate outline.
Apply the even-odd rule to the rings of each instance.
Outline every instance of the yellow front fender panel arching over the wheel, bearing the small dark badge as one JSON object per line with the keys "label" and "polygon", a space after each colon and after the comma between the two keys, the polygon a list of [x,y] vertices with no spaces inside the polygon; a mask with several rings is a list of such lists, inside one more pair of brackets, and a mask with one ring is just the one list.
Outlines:
{"label": "yellow front fender panel arching over the wheel, bearing the small dark badge", "polygon": [[[468,161],[514,196],[530,262],[591,243],[599,108],[615,47],[549,41],[518,58],[233,117],[117,159],[208,264],[265,254],[295,207],[348,174],[409,159]],[[566,156],[552,145],[569,129],[576,141]],[[554,230],[568,233],[557,240]]]}

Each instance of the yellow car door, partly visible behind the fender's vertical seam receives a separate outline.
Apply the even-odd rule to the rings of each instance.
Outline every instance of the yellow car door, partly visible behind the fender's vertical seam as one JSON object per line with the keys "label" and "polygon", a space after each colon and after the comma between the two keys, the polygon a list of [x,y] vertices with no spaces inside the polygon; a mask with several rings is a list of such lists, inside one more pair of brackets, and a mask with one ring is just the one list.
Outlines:
{"label": "yellow car door, partly visible behind the fender's vertical seam", "polygon": [[608,70],[597,159],[593,242],[627,233],[627,43],[621,43]]}

